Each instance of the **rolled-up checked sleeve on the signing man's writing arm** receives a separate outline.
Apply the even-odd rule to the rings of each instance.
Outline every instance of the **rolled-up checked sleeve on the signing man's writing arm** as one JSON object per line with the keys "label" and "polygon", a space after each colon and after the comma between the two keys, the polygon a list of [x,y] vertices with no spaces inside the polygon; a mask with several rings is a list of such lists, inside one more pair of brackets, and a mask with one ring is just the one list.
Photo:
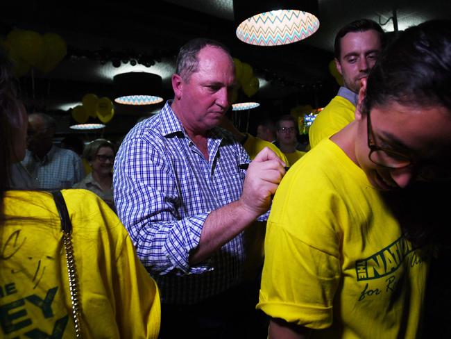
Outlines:
{"label": "rolled-up checked sleeve on the signing man's writing arm", "polygon": [[131,138],[119,149],[114,163],[114,202],[119,218],[150,272],[183,275],[211,270],[207,262],[196,266],[188,262],[210,212],[180,217],[183,188],[156,143]]}

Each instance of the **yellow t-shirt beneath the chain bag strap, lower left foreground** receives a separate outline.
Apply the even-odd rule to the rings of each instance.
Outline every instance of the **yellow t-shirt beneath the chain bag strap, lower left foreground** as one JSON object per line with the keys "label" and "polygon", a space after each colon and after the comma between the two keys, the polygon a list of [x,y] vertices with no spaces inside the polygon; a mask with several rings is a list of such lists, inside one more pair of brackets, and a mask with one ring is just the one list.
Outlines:
{"label": "yellow t-shirt beneath the chain bag strap, lower left foreground", "polygon": [[[157,338],[160,296],[124,226],[87,190],[62,190],[73,225],[83,338]],[[75,338],[60,217],[46,192],[8,191],[0,224],[0,337]]]}

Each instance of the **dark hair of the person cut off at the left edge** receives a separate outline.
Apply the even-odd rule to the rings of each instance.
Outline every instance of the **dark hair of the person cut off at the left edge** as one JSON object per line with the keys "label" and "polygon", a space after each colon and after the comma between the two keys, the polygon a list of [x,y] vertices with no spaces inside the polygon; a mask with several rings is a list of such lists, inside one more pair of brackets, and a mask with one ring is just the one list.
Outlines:
{"label": "dark hair of the person cut off at the left edge", "polygon": [[0,49],[0,199],[8,189],[15,131],[22,124],[16,80],[6,53]]}

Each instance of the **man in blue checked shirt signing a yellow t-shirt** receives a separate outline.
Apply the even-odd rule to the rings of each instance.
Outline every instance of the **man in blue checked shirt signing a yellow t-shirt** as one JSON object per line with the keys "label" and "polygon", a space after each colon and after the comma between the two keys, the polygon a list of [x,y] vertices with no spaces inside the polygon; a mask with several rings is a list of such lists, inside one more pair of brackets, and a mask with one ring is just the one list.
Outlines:
{"label": "man in blue checked shirt signing a yellow t-shirt", "polygon": [[185,44],[172,87],[174,99],[121,144],[114,201],[158,281],[161,338],[246,338],[243,231],[269,210],[284,163],[264,149],[247,173],[239,168],[249,162],[246,151],[218,127],[235,88],[222,44]]}

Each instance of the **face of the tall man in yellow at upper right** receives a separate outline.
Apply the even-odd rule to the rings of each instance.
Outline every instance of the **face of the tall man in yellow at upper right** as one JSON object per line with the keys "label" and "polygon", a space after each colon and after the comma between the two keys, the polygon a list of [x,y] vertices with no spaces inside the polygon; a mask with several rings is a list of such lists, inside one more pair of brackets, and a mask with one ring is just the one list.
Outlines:
{"label": "face of the tall man in yellow at upper right", "polygon": [[358,93],[360,79],[368,76],[381,49],[379,33],[374,30],[350,32],[340,41],[340,59],[335,59],[343,83],[352,92]]}

